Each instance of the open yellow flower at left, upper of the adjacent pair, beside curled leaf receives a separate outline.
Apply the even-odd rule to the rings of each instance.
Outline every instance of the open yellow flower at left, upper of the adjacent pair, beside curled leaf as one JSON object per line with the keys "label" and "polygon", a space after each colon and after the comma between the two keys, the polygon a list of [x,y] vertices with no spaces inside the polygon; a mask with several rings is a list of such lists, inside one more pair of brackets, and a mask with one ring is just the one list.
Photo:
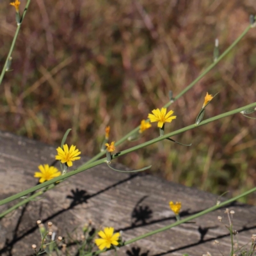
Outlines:
{"label": "open yellow flower at left, upper of the adjacent pair, beside curled leaf", "polygon": [[68,145],[65,144],[63,145],[63,149],[61,147],[56,148],[58,155],[55,156],[55,159],[60,160],[61,163],[67,163],[68,167],[73,165],[72,161],[75,161],[81,158],[79,156],[81,152],[79,152],[79,150],[76,149],[76,146],[72,145],[70,149],[68,149]]}

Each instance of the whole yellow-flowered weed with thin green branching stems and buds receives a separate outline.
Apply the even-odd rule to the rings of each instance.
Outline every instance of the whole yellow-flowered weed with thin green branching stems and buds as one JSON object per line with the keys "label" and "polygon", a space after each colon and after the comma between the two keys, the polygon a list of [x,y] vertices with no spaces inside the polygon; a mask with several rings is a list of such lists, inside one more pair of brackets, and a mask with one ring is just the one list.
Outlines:
{"label": "whole yellow-flowered weed with thin green branching stems and buds", "polygon": [[[12,52],[15,47],[15,42],[17,40],[17,36],[19,34],[19,30],[22,25],[22,21],[24,20],[24,17],[26,15],[26,12],[29,8],[29,3],[30,0],[27,1],[26,7],[24,11],[22,12],[22,15],[20,16],[20,1],[15,0],[15,2],[11,3],[12,6],[15,7],[15,20],[17,22],[17,29],[15,32],[15,35],[13,37],[13,42],[12,45],[10,46],[10,51],[8,52],[8,55],[6,57],[6,61],[4,63],[4,66],[2,68],[1,76],[0,76],[0,84],[3,82],[3,77],[5,72],[10,71],[11,64],[12,64]],[[70,172],[68,168],[72,168],[72,162],[79,160],[81,157],[79,156],[81,152],[79,151],[78,148],[76,148],[76,145],[71,145],[68,147],[67,144],[65,144],[65,141],[67,139],[68,133],[70,132],[71,129],[68,129],[68,131],[65,133],[63,136],[63,140],[61,141],[60,147],[56,148],[56,160],[60,161],[60,169],[59,171],[56,167],[54,166],[49,166],[48,164],[42,163],[38,166],[40,172],[35,172],[35,178],[40,178],[39,183],[37,186],[34,186],[32,188],[26,189],[25,191],[22,191],[20,193],[17,193],[16,195],[12,195],[8,198],[5,198],[4,200],[0,201],[0,205],[3,204],[8,204],[9,202],[12,202],[13,200],[17,200],[19,198],[22,198],[22,201],[13,205],[13,207],[10,207],[10,209],[2,212],[0,214],[0,218],[3,218],[6,216],[6,214],[15,211],[20,205],[27,204],[29,201],[34,200],[36,197],[43,195],[46,193],[49,189],[53,189],[58,184],[63,182],[65,179],[68,179],[72,175],[76,175],[77,173],[84,172],[93,166],[97,166],[99,164],[108,164],[109,168],[111,168],[114,171],[117,172],[125,172],[122,170],[116,170],[111,166],[111,161],[114,159],[124,156],[126,154],[129,154],[130,152],[133,152],[135,150],[138,150],[143,147],[148,147],[149,145],[152,145],[154,143],[158,143],[159,141],[163,140],[169,140],[175,143],[178,143],[179,145],[184,145],[182,143],[179,143],[177,141],[174,141],[172,139],[172,136],[180,134],[182,132],[189,131],[191,129],[196,129],[197,127],[201,125],[206,125],[209,124],[210,122],[214,122],[216,120],[219,120],[220,118],[225,118],[230,115],[235,115],[237,113],[241,113],[244,116],[253,113],[256,110],[256,102],[252,102],[252,104],[249,104],[247,106],[243,106],[241,108],[233,109],[230,110],[226,113],[222,113],[220,115],[212,116],[211,118],[207,120],[203,120],[204,118],[204,113],[207,105],[211,102],[211,104],[216,104],[214,102],[212,95],[209,94],[208,92],[206,93],[204,104],[202,104],[202,109],[198,113],[198,116],[195,120],[195,124],[188,125],[187,127],[183,127],[177,131],[173,132],[168,132],[164,134],[164,127],[165,125],[169,125],[168,123],[172,122],[176,118],[182,118],[181,116],[173,116],[173,110],[168,110],[167,108],[170,107],[170,105],[175,101],[178,100],[184,93],[188,92],[195,84],[202,79],[202,77],[205,76],[212,68],[214,68],[218,63],[225,57],[227,56],[228,52],[230,52],[237,44],[238,42],[243,38],[243,36],[250,31],[251,28],[255,26],[255,17],[251,16],[250,17],[250,24],[248,27],[243,31],[243,33],[234,41],[233,44],[230,45],[222,54],[220,54],[219,48],[218,48],[218,40],[216,40],[214,49],[213,49],[213,55],[214,55],[214,61],[209,67],[205,68],[205,70],[202,71],[200,76],[198,76],[195,81],[193,81],[191,84],[189,84],[182,92],[180,92],[178,95],[173,97],[173,93],[170,92],[170,101],[167,102],[164,106],[161,107],[161,110],[156,106],[156,109],[152,110],[152,113],[148,114],[147,120],[141,120],[141,125],[136,127],[134,130],[126,134],[123,138],[121,138],[118,141],[112,141],[110,143],[109,141],[109,130],[110,127],[106,127],[106,134],[104,141],[102,142],[102,145],[100,147],[100,152],[97,154],[95,157],[92,157],[90,161],[82,164],[79,168],[72,170]],[[15,61],[15,60],[13,60]],[[246,114],[246,115],[245,115]],[[250,116],[247,116],[250,118]],[[114,154],[116,147],[120,145],[121,143],[124,143],[127,140],[136,140],[139,136],[143,136],[143,132],[146,131],[147,129],[150,129],[152,125],[150,123],[152,122],[157,122],[157,127],[159,128],[160,131],[160,136],[158,138],[154,138],[152,140],[149,140],[145,143],[141,143],[140,145],[136,145],[135,147],[127,148],[126,150],[123,150],[121,152],[118,152]],[[186,145],[186,146],[191,146],[191,144]],[[106,157],[100,159],[100,157],[104,156],[106,154]],[[44,165],[43,165],[44,164]],[[150,168],[150,166],[147,166],[145,168],[142,168],[140,170],[134,170],[130,172],[140,172],[143,170],[147,170]],[[81,237],[81,241],[77,243],[78,250],[76,251],[76,254],[74,255],[98,255],[102,252],[106,252],[107,250],[115,250],[118,247],[125,246],[127,244],[134,243],[135,241],[138,241],[140,239],[143,239],[148,236],[152,236],[154,234],[157,234],[158,232],[163,232],[164,230],[168,230],[170,228],[176,227],[177,225],[180,225],[182,223],[185,223],[187,221],[194,220],[195,218],[198,218],[204,214],[207,214],[209,212],[212,212],[216,209],[219,209],[220,207],[223,207],[224,205],[230,204],[231,202],[234,202],[235,200],[249,195],[250,193],[253,193],[256,191],[256,188],[250,189],[249,191],[246,191],[242,193],[241,195],[235,196],[234,198],[231,198],[229,200],[226,200],[225,202],[221,202],[220,204],[216,204],[209,209],[206,209],[204,211],[198,212],[196,214],[193,214],[192,216],[189,216],[187,218],[184,218],[181,220],[179,216],[179,211],[181,207],[180,202],[176,202],[175,204],[171,201],[170,202],[170,208],[172,211],[175,213],[175,216],[177,218],[177,221],[175,223],[172,223],[171,225],[166,225],[163,228],[159,228],[157,230],[153,230],[151,232],[148,232],[147,234],[143,234],[138,237],[134,237],[133,239],[129,241],[124,241],[122,239],[122,234],[120,232],[114,232],[113,227],[104,227],[103,230],[100,230],[98,232],[98,235],[100,238],[94,239],[95,232],[93,234],[89,234],[88,228],[84,229],[83,235]],[[34,193],[35,192],[35,193]],[[29,194],[34,193],[31,196],[28,196]],[[228,230],[230,231],[230,237],[231,237],[231,250],[230,250],[230,256],[236,255],[237,252],[239,252],[241,255],[253,255],[253,252],[255,252],[255,235],[252,237],[252,245],[250,247],[249,252],[244,250],[242,247],[235,246],[236,244],[234,243],[234,236],[235,231],[233,229],[233,223],[232,223],[232,214],[234,212],[229,211],[228,209],[225,212],[228,216],[229,220],[229,226],[227,227]],[[219,220],[221,220],[221,217],[219,217]],[[65,240],[63,240],[63,237],[58,236],[56,238],[56,234],[52,230],[52,223],[49,222],[47,224],[47,228],[45,228],[44,224],[42,224],[40,221],[38,221],[38,228],[40,230],[41,234],[41,242],[40,246],[36,244],[32,245],[33,251],[35,255],[40,255],[42,253],[47,253],[48,255],[52,255],[52,252],[56,252],[57,255],[60,255],[61,252],[66,253],[67,252],[67,244],[65,243]],[[99,246],[99,250],[93,252],[93,244],[96,244]],[[216,242],[218,244],[218,242]],[[78,254],[77,254],[78,253]],[[246,254],[247,253],[247,254]],[[67,255],[70,255],[68,252]],[[211,253],[209,253],[211,255]]]}

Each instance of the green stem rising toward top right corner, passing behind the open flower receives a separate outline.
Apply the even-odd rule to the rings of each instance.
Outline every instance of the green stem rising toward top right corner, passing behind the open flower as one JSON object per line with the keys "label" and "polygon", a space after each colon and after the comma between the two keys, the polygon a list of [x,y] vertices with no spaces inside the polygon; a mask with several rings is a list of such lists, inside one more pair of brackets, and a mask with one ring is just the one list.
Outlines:
{"label": "green stem rising toward top right corner, passing behind the open flower", "polygon": [[[214,68],[228,54],[228,52],[230,52],[237,45],[237,43],[246,35],[246,33],[248,33],[250,28],[251,28],[251,25],[248,26],[246,29],[244,29],[243,33],[228,47],[228,49],[226,51],[223,52],[223,54],[221,54],[221,56],[218,59],[216,59],[216,61],[214,61],[214,63],[209,65],[209,67],[207,67],[204,70],[204,72],[202,72],[200,74],[200,76],[198,76],[191,84],[189,84],[184,90],[182,90],[182,92],[180,92],[172,101],[170,101],[167,104],[165,104],[163,108],[168,108],[175,100],[179,99],[182,95],[184,95],[184,93],[188,92],[188,90],[190,90],[200,79],[202,79],[202,77],[204,77],[210,70],[212,70],[212,68]],[[149,119],[147,119],[147,121],[148,120]],[[140,130],[140,126],[136,127],[131,132],[126,134],[123,138],[121,138],[120,140],[116,141],[115,145],[116,146],[120,145],[121,143],[126,141],[130,136],[132,136],[133,134],[135,134],[139,130]],[[85,164],[93,163],[95,160],[99,159],[100,157],[104,156],[105,154],[106,154],[106,151],[99,152],[99,154],[97,154],[96,156],[92,157]]]}

